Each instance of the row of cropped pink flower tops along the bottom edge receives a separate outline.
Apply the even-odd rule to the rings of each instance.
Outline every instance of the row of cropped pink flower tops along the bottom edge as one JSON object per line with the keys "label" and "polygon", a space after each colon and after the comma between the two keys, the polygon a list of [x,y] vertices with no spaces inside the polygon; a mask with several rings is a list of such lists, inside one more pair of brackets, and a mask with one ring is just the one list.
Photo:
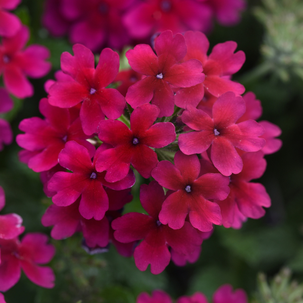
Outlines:
{"label": "row of cropped pink flower tops along the bottom edge", "polygon": [[[243,289],[233,291],[230,284],[220,286],[214,293],[213,303],[247,303],[247,295]],[[171,297],[162,290],[154,290],[151,296],[146,292],[138,295],[136,303],[172,303]],[[181,296],[176,303],[208,303],[205,294],[195,292],[191,296]]]}

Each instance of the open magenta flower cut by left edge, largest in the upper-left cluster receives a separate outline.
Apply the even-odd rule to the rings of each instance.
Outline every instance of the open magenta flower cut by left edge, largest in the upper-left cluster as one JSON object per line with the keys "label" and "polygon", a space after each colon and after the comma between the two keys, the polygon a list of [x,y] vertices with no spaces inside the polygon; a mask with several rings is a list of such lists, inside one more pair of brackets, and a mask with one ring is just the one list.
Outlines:
{"label": "open magenta flower cut by left edge, largest in the upper-left cluster", "polygon": [[29,30],[22,26],[12,37],[2,39],[0,44],[0,75],[3,73],[4,84],[8,91],[18,98],[33,95],[33,86],[26,76],[41,78],[51,69],[46,47],[32,44],[24,49],[29,39]]}

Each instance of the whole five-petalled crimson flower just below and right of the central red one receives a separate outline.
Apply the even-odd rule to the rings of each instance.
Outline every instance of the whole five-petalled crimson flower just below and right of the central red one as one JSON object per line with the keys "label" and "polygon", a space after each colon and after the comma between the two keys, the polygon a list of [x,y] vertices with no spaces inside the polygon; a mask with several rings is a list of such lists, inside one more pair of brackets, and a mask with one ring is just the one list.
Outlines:
{"label": "whole five-petalled crimson flower just below and right of the central red one", "polygon": [[172,189],[164,201],[159,220],[173,229],[189,221],[200,231],[210,231],[214,224],[221,224],[220,208],[209,199],[223,200],[229,193],[229,179],[221,174],[199,176],[200,163],[196,155],[186,156],[177,151],[175,166],[169,161],[160,161],[151,172],[160,185]]}

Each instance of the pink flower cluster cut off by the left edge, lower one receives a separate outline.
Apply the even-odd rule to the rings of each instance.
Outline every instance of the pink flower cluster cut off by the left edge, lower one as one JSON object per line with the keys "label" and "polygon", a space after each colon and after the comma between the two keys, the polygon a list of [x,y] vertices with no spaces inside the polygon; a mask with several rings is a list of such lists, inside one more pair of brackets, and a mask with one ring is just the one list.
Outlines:
{"label": "pink flower cluster cut off by the left edge, lower one", "polygon": [[[4,206],[5,193],[0,186],[0,211]],[[53,270],[39,265],[53,259],[55,247],[47,244],[48,237],[38,232],[27,233],[20,241],[24,229],[19,215],[0,215],[0,291],[7,291],[19,281],[21,269],[33,283],[54,287]],[[0,302],[3,301],[0,293]]]}

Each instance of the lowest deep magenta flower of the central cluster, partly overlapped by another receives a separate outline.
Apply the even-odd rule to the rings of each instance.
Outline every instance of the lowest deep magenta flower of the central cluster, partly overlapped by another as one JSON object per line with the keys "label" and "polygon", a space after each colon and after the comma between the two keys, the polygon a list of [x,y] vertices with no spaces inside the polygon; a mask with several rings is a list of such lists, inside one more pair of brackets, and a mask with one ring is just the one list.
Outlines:
{"label": "lowest deep magenta flower of the central cluster, partly overlapped by another", "polygon": [[112,222],[115,238],[128,243],[142,242],[135,248],[134,259],[139,270],[146,270],[150,264],[151,273],[160,274],[169,264],[171,255],[168,246],[179,254],[189,255],[202,242],[196,230],[185,222],[182,228],[175,230],[159,221],[159,212],[165,200],[163,188],[152,181],[140,188],[140,201],[149,214],[127,213]]}

